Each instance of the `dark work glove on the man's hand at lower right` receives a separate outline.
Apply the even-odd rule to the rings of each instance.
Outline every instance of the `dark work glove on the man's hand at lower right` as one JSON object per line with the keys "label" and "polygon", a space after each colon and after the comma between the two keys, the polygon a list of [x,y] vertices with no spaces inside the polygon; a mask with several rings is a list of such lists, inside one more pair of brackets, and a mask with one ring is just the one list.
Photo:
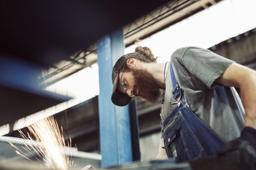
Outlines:
{"label": "dark work glove on the man's hand at lower right", "polygon": [[244,127],[241,137],[223,145],[217,154],[225,155],[233,151],[240,152],[243,169],[256,169],[256,130],[252,127]]}

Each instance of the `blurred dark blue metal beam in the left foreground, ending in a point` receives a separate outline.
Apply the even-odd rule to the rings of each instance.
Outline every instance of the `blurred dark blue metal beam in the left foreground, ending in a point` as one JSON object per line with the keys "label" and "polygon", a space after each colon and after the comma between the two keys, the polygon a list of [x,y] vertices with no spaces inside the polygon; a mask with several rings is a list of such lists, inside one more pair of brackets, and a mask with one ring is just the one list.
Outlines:
{"label": "blurred dark blue metal beam in the left foreground, ending in a point", "polygon": [[0,126],[72,99],[43,90],[41,73],[36,64],[0,53]]}

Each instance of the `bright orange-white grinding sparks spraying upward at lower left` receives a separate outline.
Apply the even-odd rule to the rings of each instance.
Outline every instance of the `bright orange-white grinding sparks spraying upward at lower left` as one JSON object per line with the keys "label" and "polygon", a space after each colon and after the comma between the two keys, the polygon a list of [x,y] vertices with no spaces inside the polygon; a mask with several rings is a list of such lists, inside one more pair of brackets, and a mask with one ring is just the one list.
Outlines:
{"label": "bright orange-white grinding sparks spraying upward at lower left", "polygon": [[[29,139],[29,144],[24,146],[27,152],[34,150],[44,161],[43,163],[51,166],[53,169],[68,169],[72,165],[71,160],[65,152],[63,129],[62,127],[61,130],[59,129],[53,117],[48,117],[29,125],[28,130],[34,137],[30,136],[28,132],[26,136],[24,132],[19,130],[22,138]],[[33,138],[39,141],[40,145],[35,145],[36,142],[33,141]],[[67,145],[71,145],[71,139]],[[18,154],[23,156],[20,152]],[[40,162],[42,161],[40,160]]]}

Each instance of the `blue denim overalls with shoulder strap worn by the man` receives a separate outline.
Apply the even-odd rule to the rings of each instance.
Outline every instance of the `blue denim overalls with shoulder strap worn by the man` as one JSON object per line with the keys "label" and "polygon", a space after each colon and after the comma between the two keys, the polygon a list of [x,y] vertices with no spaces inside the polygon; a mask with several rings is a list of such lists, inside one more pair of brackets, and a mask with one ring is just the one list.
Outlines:
{"label": "blue denim overalls with shoulder strap worn by the man", "polygon": [[181,91],[170,64],[173,97],[177,104],[163,122],[164,148],[177,162],[216,155],[224,142],[181,101]]}

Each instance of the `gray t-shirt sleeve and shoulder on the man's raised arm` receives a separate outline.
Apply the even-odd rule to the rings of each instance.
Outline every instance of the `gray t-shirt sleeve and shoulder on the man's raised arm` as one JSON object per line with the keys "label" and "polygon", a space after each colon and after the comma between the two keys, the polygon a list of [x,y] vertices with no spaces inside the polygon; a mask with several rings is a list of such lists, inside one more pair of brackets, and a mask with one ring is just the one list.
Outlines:
{"label": "gray t-shirt sleeve and shoulder on the man's raised arm", "polygon": [[193,86],[200,90],[218,87],[218,84],[214,81],[233,62],[210,50],[195,46],[180,48],[172,55],[172,64],[175,65],[176,71],[179,73],[187,71],[188,73],[185,73],[184,76],[190,74]]}

